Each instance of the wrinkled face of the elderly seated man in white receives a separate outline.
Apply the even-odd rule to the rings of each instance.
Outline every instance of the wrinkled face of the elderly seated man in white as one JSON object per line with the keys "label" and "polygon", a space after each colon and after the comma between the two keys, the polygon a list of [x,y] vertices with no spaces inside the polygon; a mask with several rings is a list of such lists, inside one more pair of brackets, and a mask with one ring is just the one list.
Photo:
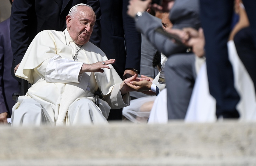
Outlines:
{"label": "wrinkled face of the elderly seated man in white", "polygon": [[94,11],[88,6],[78,6],[78,12],[73,16],[66,17],[67,29],[70,37],[77,44],[87,43],[91,37],[93,26],[96,21]]}

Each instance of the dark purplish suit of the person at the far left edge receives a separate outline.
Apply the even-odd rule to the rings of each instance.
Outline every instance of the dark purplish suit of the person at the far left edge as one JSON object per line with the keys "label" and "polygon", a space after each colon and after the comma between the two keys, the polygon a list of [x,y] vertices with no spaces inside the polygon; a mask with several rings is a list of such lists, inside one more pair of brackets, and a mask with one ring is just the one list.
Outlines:
{"label": "dark purplish suit of the person at the far left edge", "polygon": [[12,93],[18,92],[18,82],[10,74],[12,48],[9,30],[10,19],[0,23],[0,113],[12,114]]}

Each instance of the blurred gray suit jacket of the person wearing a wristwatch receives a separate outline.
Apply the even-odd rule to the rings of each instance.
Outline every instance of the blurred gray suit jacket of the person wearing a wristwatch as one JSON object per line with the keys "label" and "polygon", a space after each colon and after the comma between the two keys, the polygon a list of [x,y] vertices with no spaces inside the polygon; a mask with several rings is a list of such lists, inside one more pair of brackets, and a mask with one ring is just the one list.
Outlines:
{"label": "blurred gray suit jacket of the person wearing a wristwatch", "polygon": [[[198,29],[200,27],[199,1],[176,0],[170,11],[170,20],[173,23],[173,28],[182,29],[184,27],[192,27]],[[148,13],[144,13],[136,22],[137,29],[146,35],[150,42],[165,56],[185,53],[187,47],[174,43],[167,36],[155,31],[155,29],[161,26]]]}

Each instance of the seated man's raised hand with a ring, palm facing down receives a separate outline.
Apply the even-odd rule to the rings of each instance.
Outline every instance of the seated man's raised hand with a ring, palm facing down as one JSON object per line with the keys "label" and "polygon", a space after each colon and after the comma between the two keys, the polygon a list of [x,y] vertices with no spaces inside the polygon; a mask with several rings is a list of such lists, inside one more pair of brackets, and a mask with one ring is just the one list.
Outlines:
{"label": "seated man's raised hand with a ring, palm facing down", "polygon": [[84,72],[100,72],[103,73],[104,70],[102,68],[107,68],[110,69],[109,66],[107,66],[108,64],[113,64],[115,63],[115,59],[109,59],[107,61],[101,61],[101,62],[96,62],[93,64],[83,64],[83,66],[81,67],[80,73],[84,73]]}

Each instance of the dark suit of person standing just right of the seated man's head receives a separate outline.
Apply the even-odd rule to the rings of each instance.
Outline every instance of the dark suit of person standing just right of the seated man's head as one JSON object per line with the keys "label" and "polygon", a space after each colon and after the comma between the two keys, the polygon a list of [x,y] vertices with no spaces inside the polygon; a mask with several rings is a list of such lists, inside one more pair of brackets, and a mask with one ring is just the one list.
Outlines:
{"label": "dark suit of person standing just right of the seated man's head", "polygon": [[122,78],[126,68],[140,71],[141,35],[134,20],[126,14],[128,0],[100,0],[101,50]]}

